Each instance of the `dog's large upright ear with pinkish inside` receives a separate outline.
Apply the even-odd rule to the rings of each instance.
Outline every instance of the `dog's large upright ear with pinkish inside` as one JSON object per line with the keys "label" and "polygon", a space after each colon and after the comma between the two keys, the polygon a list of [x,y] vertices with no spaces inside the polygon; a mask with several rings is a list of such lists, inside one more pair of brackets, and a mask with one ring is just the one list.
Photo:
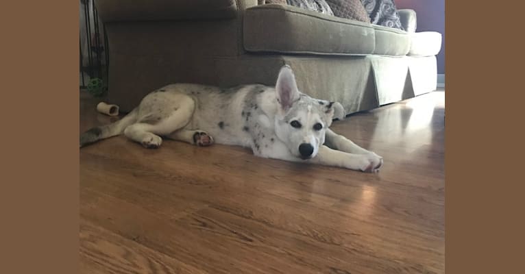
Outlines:
{"label": "dog's large upright ear with pinkish inside", "polygon": [[299,99],[299,90],[295,82],[295,76],[290,66],[285,65],[279,71],[279,77],[276,84],[277,101],[280,103],[282,110],[286,111],[291,108],[293,102]]}

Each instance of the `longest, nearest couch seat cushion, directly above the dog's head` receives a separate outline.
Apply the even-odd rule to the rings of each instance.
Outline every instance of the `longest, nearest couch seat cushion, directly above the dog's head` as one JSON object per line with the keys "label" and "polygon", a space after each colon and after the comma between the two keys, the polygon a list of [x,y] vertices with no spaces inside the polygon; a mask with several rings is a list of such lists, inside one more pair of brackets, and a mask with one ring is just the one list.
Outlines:
{"label": "longest, nearest couch seat cushion, directly above the dog's head", "polygon": [[368,23],[289,5],[248,8],[243,25],[244,47],[252,52],[364,55],[376,43]]}

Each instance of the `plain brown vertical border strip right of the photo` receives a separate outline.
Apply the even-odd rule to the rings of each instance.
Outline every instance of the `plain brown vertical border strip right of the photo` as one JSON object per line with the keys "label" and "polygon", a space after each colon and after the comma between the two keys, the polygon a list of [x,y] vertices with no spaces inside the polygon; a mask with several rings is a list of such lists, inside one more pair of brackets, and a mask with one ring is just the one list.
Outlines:
{"label": "plain brown vertical border strip right of the photo", "polygon": [[[517,5],[445,3],[449,274],[524,271],[525,191],[523,175],[517,174],[523,169],[518,152],[523,149],[517,144],[524,136],[508,132],[523,125],[523,45],[515,40],[523,32],[522,10]],[[481,14],[490,19],[474,19]]]}

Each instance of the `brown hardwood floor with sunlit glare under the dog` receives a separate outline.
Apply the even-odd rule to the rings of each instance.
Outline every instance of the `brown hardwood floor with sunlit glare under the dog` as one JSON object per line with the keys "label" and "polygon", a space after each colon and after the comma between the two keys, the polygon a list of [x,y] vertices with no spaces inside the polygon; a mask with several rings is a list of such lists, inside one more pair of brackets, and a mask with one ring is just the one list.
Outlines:
{"label": "brown hardwood floor with sunlit glare under the dog", "polygon": [[[81,95],[80,130],[115,118]],[[380,173],[118,136],[80,150],[82,273],[444,273],[445,93],[332,125]]]}

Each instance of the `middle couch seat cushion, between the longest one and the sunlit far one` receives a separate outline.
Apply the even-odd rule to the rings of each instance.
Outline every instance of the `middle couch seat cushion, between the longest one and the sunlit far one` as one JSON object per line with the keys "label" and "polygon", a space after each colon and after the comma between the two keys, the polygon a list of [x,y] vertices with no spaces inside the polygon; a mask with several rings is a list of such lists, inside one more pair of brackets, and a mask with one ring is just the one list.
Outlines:
{"label": "middle couch seat cushion, between the longest one and the sunlit far one", "polygon": [[392,27],[373,25],[376,34],[374,54],[402,56],[410,50],[411,37],[408,32]]}

